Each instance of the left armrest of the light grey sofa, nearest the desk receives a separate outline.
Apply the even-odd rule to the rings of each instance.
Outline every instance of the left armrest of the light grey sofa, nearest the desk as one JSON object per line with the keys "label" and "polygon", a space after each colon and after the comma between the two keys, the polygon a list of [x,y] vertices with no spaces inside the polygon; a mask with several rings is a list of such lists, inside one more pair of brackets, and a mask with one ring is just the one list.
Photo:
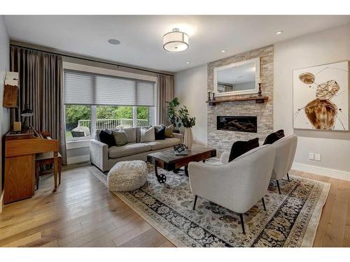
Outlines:
{"label": "left armrest of the light grey sofa, nearest the desk", "polygon": [[109,147],[97,140],[90,140],[90,161],[103,172],[109,170]]}

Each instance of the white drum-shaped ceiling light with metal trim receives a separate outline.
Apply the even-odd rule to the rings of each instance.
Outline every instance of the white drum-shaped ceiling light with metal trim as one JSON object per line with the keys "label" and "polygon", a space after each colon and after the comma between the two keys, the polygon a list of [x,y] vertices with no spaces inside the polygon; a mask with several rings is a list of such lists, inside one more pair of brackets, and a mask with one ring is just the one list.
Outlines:
{"label": "white drum-shaped ceiling light with metal trim", "polygon": [[163,36],[163,48],[169,52],[181,52],[188,49],[188,34],[174,28]]}

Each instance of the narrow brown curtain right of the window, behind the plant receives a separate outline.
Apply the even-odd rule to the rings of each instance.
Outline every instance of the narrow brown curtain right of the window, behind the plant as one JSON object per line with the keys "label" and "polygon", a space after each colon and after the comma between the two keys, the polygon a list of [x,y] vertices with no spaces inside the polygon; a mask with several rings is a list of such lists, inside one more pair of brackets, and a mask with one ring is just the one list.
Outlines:
{"label": "narrow brown curtain right of the window, behind the plant", "polygon": [[174,99],[174,76],[158,75],[158,124],[169,125],[167,103]]}

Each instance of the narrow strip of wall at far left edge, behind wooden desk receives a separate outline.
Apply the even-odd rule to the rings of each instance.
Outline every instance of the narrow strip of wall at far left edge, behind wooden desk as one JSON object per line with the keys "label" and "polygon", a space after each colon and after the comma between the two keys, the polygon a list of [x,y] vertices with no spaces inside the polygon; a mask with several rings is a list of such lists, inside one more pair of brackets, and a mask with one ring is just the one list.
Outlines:
{"label": "narrow strip of wall at far left edge, behind wooden desk", "polygon": [[[9,58],[9,53],[10,53],[10,46],[9,46],[9,39],[8,39],[8,34],[6,31],[6,26],[5,26],[5,20],[3,19],[3,15],[0,16],[0,130],[1,130],[1,140],[0,140],[0,170],[1,170],[1,175],[0,175],[0,198],[1,198],[1,193],[2,193],[2,186],[1,186],[1,181],[2,181],[2,159],[3,159],[3,145],[2,145],[2,138],[5,133],[7,133],[9,129],[9,122],[8,122],[8,117],[9,117],[9,110],[7,108],[2,107],[2,102],[3,102],[3,84],[5,82],[5,75],[6,71],[8,71],[9,68],[9,63],[10,63],[10,58]],[[1,203],[0,203],[1,205]],[[1,210],[1,207],[0,207]]]}

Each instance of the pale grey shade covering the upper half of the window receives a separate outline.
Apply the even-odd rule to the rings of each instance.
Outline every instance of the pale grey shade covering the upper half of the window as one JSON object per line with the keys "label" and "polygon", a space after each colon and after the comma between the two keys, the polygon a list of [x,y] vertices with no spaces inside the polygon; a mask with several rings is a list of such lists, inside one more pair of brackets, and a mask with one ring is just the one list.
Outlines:
{"label": "pale grey shade covering the upper half of the window", "polygon": [[155,106],[155,82],[65,70],[64,103]]}

